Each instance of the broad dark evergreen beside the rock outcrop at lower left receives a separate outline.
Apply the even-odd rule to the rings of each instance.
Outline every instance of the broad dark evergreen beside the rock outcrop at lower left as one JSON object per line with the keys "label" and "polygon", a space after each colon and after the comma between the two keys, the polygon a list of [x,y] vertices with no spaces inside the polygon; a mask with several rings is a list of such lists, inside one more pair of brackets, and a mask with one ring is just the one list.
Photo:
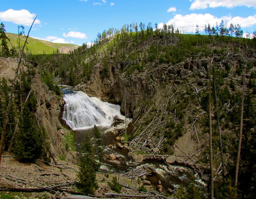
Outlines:
{"label": "broad dark evergreen beside the rock outcrop at lower left", "polygon": [[26,103],[20,115],[19,131],[15,138],[14,153],[21,162],[35,162],[43,154],[43,134],[38,128],[34,114]]}

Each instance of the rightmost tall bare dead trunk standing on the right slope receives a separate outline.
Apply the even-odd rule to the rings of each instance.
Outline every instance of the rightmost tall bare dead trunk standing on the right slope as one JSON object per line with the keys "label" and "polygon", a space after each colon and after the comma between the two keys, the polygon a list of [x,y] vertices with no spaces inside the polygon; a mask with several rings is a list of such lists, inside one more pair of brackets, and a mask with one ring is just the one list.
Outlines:
{"label": "rightmost tall bare dead trunk standing on the right slope", "polygon": [[239,163],[240,163],[241,142],[242,142],[242,133],[243,133],[243,109],[244,109],[244,78],[245,78],[245,70],[246,69],[244,69],[243,91],[242,91],[242,99],[241,99],[240,133],[239,133],[239,141],[238,141],[238,149],[237,149],[236,166],[235,166],[235,186],[237,186],[237,181],[238,181],[238,170],[239,170]]}

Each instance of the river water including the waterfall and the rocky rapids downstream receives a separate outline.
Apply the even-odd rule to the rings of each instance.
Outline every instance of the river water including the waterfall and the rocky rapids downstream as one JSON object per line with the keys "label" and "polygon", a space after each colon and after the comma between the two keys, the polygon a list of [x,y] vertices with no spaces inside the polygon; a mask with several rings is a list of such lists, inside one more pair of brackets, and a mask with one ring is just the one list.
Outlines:
{"label": "river water including the waterfall and the rocky rapids downstream", "polygon": [[[113,135],[111,130],[124,128],[124,124],[118,127],[111,126],[113,116],[117,115],[120,119],[125,120],[125,116],[120,112],[121,107],[116,104],[101,101],[98,98],[90,98],[81,91],[72,91],[70,88],[61,90],[64,94],[63,99],[66,102],[62,118],[71,130],[75,131],[76,149],[79,150],[79,146],[83,143],[86,132],[88,132],[91,137],[93,136],[92,127],[96,124],[102,132],[103,146],[105,148],[103,153],[105,157],[113,153],[121,156],[118,162],[115,163],[109,162],[105,158],[101,164],[103,171],[125,173],[137,166],[150,164],[156,168],[156,172],[151,176],[148,175],[148,180],[151,181],[153,186],[156,186],[160,180],[164,191],[168,188],[175,189],[177,187],[187,186],[191,182],[190,179],[192,175],[195,176],[198,186],[206,189],[206,184],[200,180],[199,175],[186,166],[173,165],[174,169],[170,171],[163,161],[145,160],[143,163],[135,163],[132,161],[132,164],[129,164],[132,158],[127,155],[128,150],[107,147],[110,144],[117,144],[115,137],[118,136],[118,134]],[[129,119],[129,122],[130,121]],[[177,167],[182,168],[184,172],[179,172],[175,169]]]}

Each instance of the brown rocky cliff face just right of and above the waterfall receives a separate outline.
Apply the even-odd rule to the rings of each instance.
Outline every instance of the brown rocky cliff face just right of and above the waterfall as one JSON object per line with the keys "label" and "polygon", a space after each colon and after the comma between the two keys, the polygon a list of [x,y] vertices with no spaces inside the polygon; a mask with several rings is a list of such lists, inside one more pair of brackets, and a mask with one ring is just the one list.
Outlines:
{"label": "brown rocky cliff face just right of and above the waterfall", "polygon": [[94,66],[91,81],[77,85],[77,89],[82,90],[91,97],[107,100],[111,103],[120,104],[122,112],[126,111],[128,117],[135,117],[138,112],[138,103],[146,100],[156,92],[156,84],[147,79],[147,74],[131,74],[130,77],[120,75],[120,70],[126,63],[118,63],[110,66],[110,77],[101,76],[103,64]]}

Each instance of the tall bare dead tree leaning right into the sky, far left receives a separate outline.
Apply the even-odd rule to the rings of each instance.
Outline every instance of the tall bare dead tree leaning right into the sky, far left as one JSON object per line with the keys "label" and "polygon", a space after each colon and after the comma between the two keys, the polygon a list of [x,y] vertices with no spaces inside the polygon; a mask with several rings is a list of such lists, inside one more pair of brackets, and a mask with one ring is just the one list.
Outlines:
{"label": "tall bare dead tree leaning right into the sky, far left", "polygon": [[24,42],[24,45],[23,45],[23,48],[22,48],[22,51],[21,51],[21,56],[20,56],[20,59],[19,59],[19,63],[18,63],[18,66],[16,68],[16,71],[15,71],[15,75],[14,75],[14,79],[13,79],[13,82],[12,82],[12,89],[11,89],[11,95],[9,97],[9,101],[8,101],[8,105],[7,105],[7,110],[6,110],[6,113],[5,113],[5,118],[4,118],[4,126],[3,126],[3,131],[2,131],[2,135],[1,135],[1,143],[0,143],[0,164],[1,164],[1,159],[2,159],[2,154],[3,154],[3,150],[4,150],[4,134],[5,134],[5,130],[6,130],[6,125],[7,125],[7,120],[8,120],[8,115],[9,115],[9,112],[10,112],[10,105],[11,105],[11,101],[12,101],[12,98],[13,98],[13,92],[14,92],[14,84],[17,80],[17,77],[18,77],[18,72],[19,72],[19,69],[20,69],[20,66],[21,66],[21,61],[22,61],[22,55],[24,53],[24,48],[26,46],[26,43],[27,43],[27,40],[28,40],[28,37],[29,37],[29,33],[32,29],[32,26],[34,24],[34,22],[36,21],[37,19],[37,16],[36,18],[34,19],[30,29],[29,29],[29,32],[28,32],[28,35],[26,37],[26,40]]}

